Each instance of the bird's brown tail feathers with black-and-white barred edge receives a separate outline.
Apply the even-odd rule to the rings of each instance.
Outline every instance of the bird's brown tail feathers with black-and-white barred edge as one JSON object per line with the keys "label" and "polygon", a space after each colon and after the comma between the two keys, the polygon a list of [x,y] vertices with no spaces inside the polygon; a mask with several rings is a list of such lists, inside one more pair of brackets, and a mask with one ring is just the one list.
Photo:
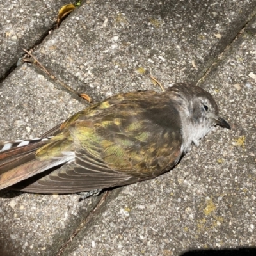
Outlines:
{"label": "bird's brown tail feathers with black-and-white barred edge", "polygon": [[8,141],[0,145],[0,190],[70,160],[67,156],[36,158],[36,151],[50,139]]}

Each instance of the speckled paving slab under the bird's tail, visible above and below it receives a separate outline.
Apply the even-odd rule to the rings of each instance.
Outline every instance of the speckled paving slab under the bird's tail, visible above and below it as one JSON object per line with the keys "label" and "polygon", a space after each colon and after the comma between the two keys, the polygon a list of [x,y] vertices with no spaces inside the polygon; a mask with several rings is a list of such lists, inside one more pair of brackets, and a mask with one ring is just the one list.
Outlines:
{"label": "speckled paving slab under the bird's tail, visible above and below it", "polygon": [[[0,86],[0,141],[38,138],[86,105],[24,64]],[[79,198],[0,191],[0,254],[58,253],[100,200]]]}

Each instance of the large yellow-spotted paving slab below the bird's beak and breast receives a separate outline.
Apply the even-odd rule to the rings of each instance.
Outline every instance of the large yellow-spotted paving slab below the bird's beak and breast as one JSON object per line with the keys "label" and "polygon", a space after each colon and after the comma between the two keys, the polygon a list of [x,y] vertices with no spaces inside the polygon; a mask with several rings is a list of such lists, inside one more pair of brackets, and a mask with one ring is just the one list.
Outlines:
{"label": "large yellow-spotted paving slab below the bird's beak and breast", "polygon": [[217,127],[171,172],[109,197],[63,255],[255,255],[255,21],[200,84],[232,131]]}

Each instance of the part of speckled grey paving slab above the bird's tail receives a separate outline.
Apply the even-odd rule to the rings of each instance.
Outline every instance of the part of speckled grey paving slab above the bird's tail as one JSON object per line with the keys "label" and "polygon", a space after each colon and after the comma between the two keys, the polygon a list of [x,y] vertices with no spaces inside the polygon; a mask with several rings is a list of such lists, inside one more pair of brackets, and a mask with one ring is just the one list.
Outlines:
{"label": "part of speckled grey paving slab above the bird's tail", "polygon": [[[70,98],[37,68],[24,63],[0,88],[1,141],[38,138],[89,104]],[[8,115],[6,115],[8,109]]]}

